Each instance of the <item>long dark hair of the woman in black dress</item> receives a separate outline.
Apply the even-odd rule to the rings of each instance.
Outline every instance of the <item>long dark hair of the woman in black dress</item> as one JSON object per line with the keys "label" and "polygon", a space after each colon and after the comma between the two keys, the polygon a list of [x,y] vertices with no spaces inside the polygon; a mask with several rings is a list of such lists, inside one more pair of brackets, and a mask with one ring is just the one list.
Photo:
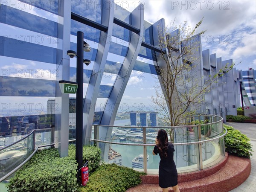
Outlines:
{"label": "long dark hair of the woman in black dress", "polygon": [[157,133],[157,142],[158,142],[158,149],[160,154],[163,157],[167,157],[167,149],[168,149],[168,137],[167,133],[164,129],[160,129]]}

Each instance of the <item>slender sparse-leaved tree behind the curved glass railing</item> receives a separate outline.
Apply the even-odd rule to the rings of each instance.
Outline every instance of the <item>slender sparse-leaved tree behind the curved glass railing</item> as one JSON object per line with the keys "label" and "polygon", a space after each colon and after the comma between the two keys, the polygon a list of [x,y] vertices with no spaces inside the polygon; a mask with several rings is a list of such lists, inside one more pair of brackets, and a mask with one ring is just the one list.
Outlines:
{"label": "slender sparse-leaved tree behind the curved glass railing", "polygon": [[[204,78],[203,72],[195,69],[200,64],[199,39],[205,31],[197,32],[201,19],[191,28],[187,22],[158,30],[159,47],[166,50],[157,55],[159,85],[155,86],[156,96],[151,97],[154,109],[166,126],[184,125],[191,116],[200,111],[204,104],[205,93],[211,85],[218,81],[219,76],[229,72],[233,64],[218,71],[218,74]],[[195,76],[193,73],[201,73]],[[174,129],[169,129],[173,140]]]}

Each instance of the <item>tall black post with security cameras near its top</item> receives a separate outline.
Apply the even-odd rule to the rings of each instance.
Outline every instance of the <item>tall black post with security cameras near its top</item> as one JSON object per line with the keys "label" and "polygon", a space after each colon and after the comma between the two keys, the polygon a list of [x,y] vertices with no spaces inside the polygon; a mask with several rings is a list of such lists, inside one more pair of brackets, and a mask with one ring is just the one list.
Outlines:
{"label": "tall black post with security cameras near its top", "polygon": [[76,91],[76,162],[78,169],[82,167],[83,163],[83,83],[84,83],[84,66],[89,65],[90,60],[84,59],[84,51],[89,52],[89,45],[84,42],[84,33],[77,32],[76,51],[69,50],[67,55],[70,58],[76,56],[76,82],[78,84]]}

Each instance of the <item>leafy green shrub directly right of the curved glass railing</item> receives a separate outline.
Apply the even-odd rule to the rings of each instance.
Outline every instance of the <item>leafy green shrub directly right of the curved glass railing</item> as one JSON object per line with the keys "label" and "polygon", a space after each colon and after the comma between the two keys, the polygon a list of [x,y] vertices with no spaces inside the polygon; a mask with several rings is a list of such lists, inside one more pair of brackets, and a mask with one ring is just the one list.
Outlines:
{"label": "leafy green shrub directly right of the curved glass railing", "polygon": [[225,151],[238,157],[250,158],[253,155],[250,139],[231,126],[224,125],[224,128],[227,129],[227,134],[224,137]]}

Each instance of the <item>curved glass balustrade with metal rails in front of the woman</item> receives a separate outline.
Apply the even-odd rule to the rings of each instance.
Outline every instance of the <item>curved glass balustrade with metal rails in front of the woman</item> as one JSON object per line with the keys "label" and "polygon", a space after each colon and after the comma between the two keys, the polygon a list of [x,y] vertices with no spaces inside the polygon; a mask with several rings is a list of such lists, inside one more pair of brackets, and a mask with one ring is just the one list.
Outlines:
{"label": "curved glass balustrade with metal rails in front of the woman", "polygon": [[[220,116],[200,115],[195,116],[195,119],[207,120],[208,123],[178,127],[94,125],[93,139],[90,141],[102,149],[105,162],[157,174],[160,158],[152,155],[154,136],[159,129],[165,129],[168,133],[173,130],[174,160],[178,172],[201,170],[224,159],[223,137],[227,130],[223,128]],[[102,137],[101,131],[107,133],[106,137]]]}

